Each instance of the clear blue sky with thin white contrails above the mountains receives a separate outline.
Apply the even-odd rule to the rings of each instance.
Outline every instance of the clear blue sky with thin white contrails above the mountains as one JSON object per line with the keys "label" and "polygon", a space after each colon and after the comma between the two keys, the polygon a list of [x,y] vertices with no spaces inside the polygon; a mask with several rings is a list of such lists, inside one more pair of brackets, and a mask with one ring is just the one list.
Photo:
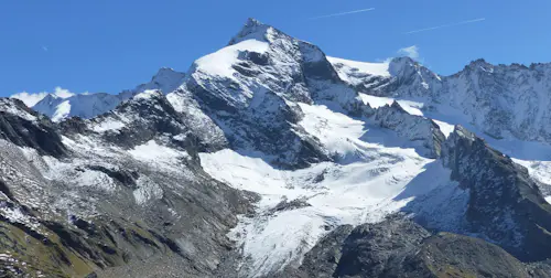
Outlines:
{"label": "clear blue sky with thin white contrails above the mountains", "polygon": [[[309,20],[367,8],[375,10]],[[161,66],[187,71],[249,17],[337,57],[377,61],[417,45],[420,60],[444,75],[478,57],[551,62],[549,14],[550,0],[0,1],[0,96],[133,88]]]}

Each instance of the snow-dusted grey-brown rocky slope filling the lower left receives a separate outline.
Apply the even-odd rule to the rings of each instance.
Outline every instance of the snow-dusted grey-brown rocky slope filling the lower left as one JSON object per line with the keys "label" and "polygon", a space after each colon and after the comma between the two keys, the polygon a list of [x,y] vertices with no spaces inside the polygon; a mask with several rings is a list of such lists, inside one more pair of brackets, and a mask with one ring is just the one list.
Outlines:
{"label": "snow-dusted grey-brown rocky slope filling the lower left", "polygon": [[[151,113],[168,104],[163,95],[138,96],[114,110],[136,115],[128,124],[139,128],[111,135],[95,132],[93,121],[73,120],[64,122],[63,136],[53,130],[44,137],[42,130],[53,125],[47,118],[39,120],[19,100],[2,101],[9,127],[2,133],[15,129],[26,139],[21,147],[10,138],[1,141],[0,246],[12,259],[0,261],[4,274],[83,277],[163,257],[162,268],[143,275],[213,276],[231,245],[224,234],[237,213],[249,210],[253,195],[201,170],[181,115],[169,107]],[[32,148],[39,138],[64,151]],[[160,152],[159,159],[144,159],[148,152]],[[129,269],[115,268],[108,276]]]}

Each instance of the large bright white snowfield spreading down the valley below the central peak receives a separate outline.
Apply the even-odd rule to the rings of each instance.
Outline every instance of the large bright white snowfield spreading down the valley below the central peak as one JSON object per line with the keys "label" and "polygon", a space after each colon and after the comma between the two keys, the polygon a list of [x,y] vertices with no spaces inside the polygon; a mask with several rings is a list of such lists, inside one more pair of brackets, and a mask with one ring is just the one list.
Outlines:
{"label": "large bright white snowfield spreading down the valley below the central peak", "polygon": [[[338,225],[381,221],[415,196],[451,183],[443,168],[437,170],[443,173],[437,182],[434,177],[419,180],[433,160],[420,157],[412,148],[401,148],[398,139],[385,146],[380,138],[391,138],[388,130],[325,106],[300,107],[305,114],[300,125],[338,157],[335,163],[284,171],[261,157],[229,149],[201,153],[203,168],[215,179],[261,195],[258,214],[252,218],[240,216],[230,233],[242,248],[246,259],[240,271],[248,277],[296,264],[317,239]],[[378,139],[370,142],[371,136]],[[423,183],[431,186],[419,186]],[[292,201],[300,205],[282,209]]]}

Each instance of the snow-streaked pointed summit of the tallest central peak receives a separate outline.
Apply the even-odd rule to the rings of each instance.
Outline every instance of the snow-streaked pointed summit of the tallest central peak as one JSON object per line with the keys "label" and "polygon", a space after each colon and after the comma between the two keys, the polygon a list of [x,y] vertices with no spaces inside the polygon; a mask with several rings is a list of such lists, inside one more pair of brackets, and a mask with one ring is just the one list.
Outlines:
{"label": "snow-streaked pointed summit of the tallest central peak", "polygon": [[344,106],[357,97],[320,47],[256,20],[249,20],[228,46],[195,61],[186,84],[212,94],[208,101],[220,99],[234,108],[260,104],[267,92],[289,100],[333,99]]}

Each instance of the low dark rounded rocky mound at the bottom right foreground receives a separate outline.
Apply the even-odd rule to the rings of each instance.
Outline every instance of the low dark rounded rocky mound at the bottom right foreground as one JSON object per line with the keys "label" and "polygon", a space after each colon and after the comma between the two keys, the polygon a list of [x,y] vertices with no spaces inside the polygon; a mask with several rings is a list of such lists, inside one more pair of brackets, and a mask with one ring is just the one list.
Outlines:
{"label": "low dark rounded rocky mound at the bottom right foreground", "polygon": [[525,265],[482,239],[431,235],[389,216],[378,224],[341,226],[322,238],[298,270],[281,277],[550,277],[548,265]]}

